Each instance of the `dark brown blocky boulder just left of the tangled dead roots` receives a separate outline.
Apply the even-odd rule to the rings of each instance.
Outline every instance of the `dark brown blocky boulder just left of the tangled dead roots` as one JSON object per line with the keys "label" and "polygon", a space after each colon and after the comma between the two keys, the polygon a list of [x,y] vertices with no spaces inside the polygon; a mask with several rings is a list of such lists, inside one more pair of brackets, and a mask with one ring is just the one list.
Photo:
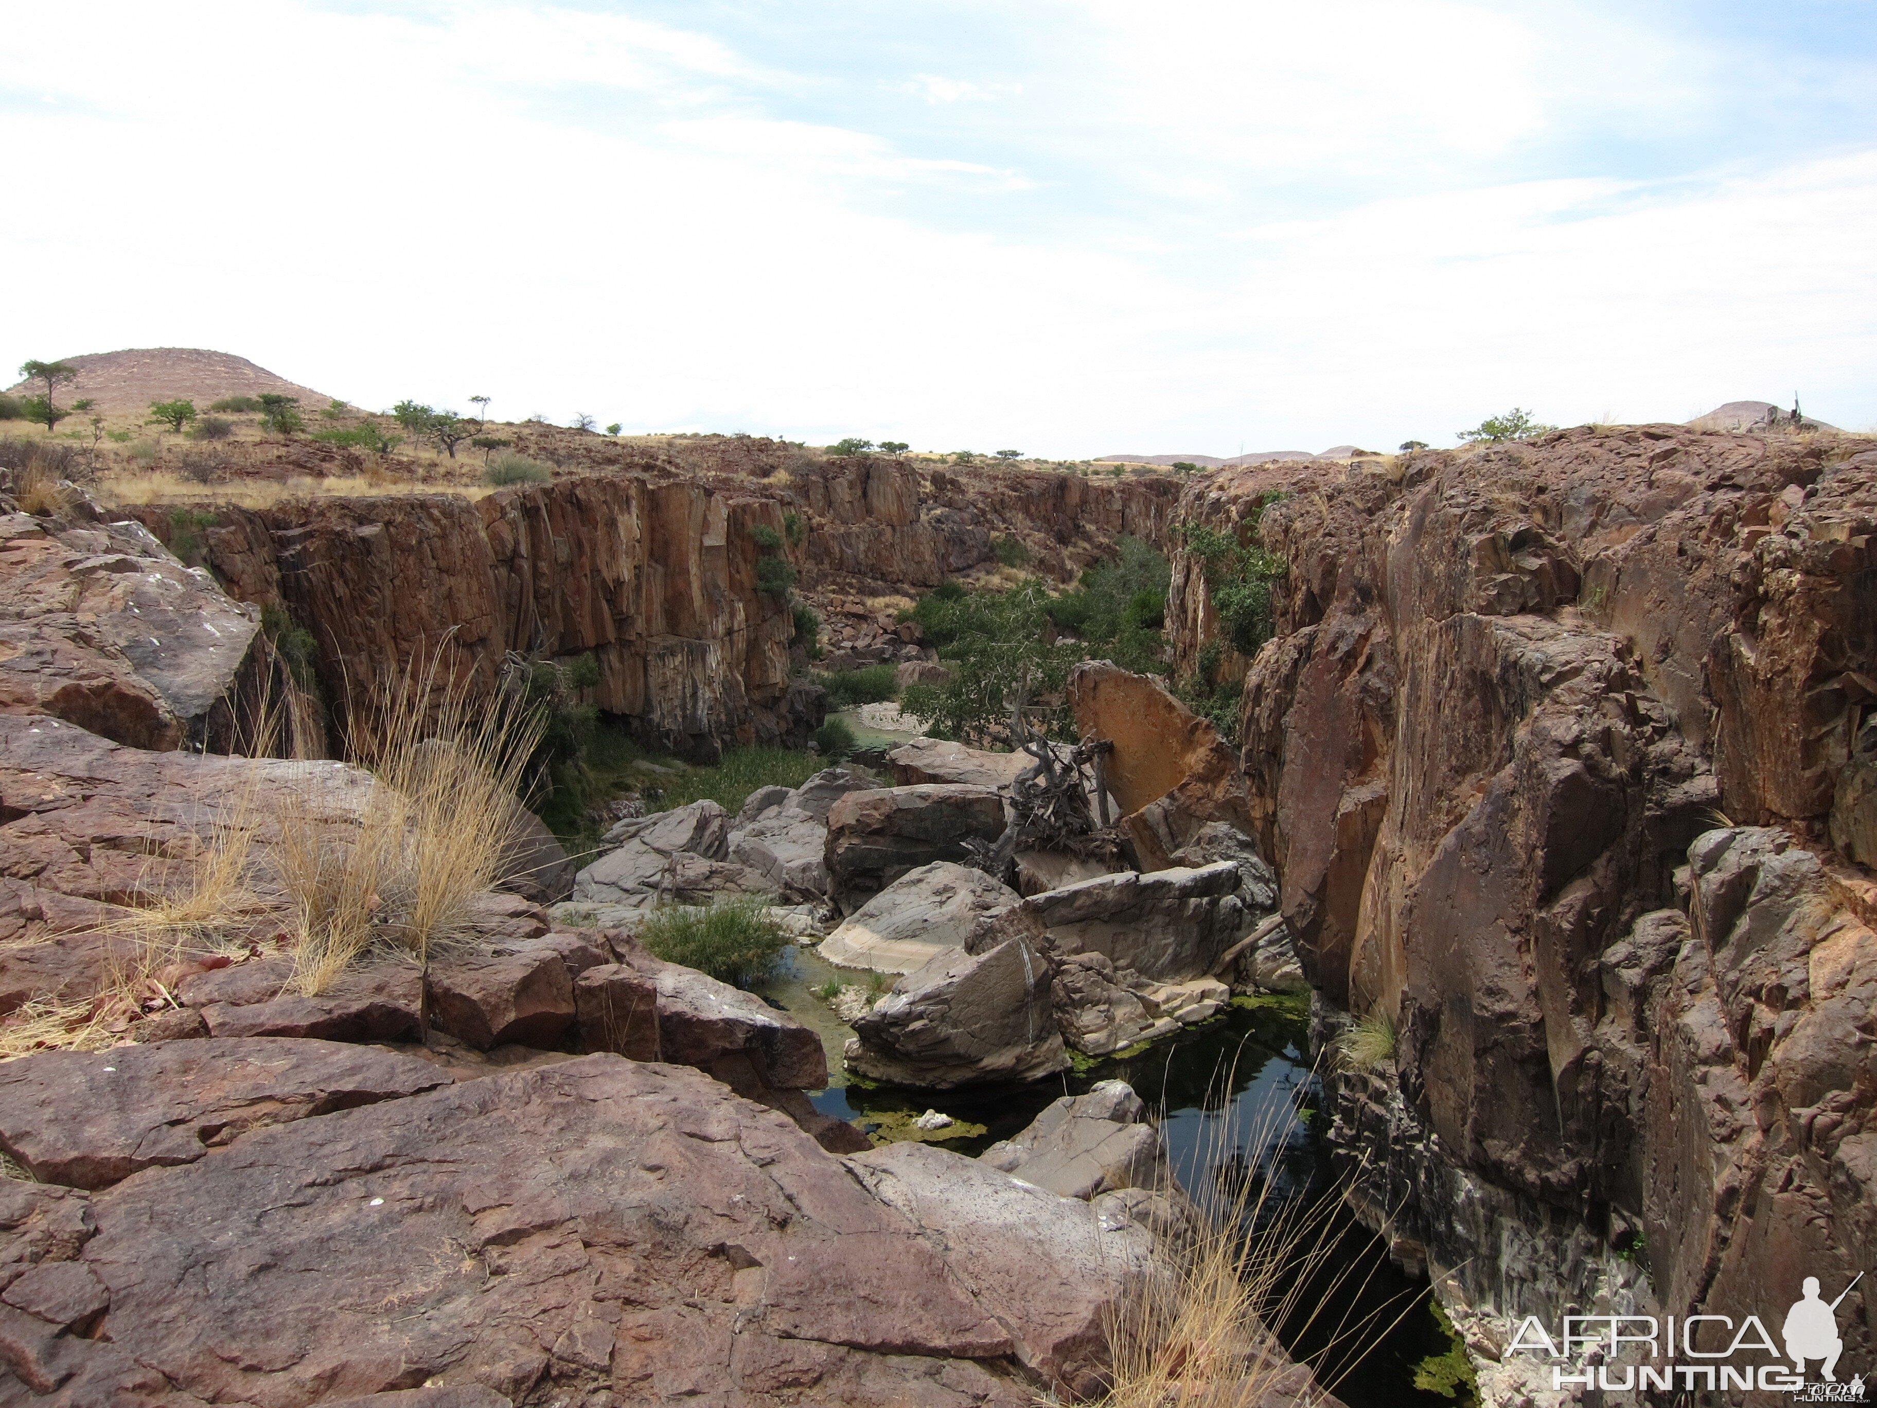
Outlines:
{"label": "dark brown blocky boulder just left of the tangled dead roots", "polygon": [[967,837],[997,841],[1004,800],[989,787],[931,783],[848,792],[828,809],[828,882],[845,912],[907,871],[969,858]]}

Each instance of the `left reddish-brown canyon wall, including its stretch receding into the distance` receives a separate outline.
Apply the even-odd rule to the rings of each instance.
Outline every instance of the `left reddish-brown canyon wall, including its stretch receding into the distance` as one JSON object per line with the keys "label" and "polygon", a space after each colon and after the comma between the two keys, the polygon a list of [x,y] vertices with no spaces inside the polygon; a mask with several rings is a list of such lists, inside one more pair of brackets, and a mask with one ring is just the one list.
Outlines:
{"label": "left reddish-brown canyon wall, including its stretch receding into the distance", "polygon": [[[220,507],[199,529],[237,601],[283,606],[317,642],[328,700],[411,661],[481,696],[509,651],[591,651],[588,700],[655,747],[710,757],[736,743],[803,745],[816,691],[790,681],[788,601],[756,588],[775,533],[811,595],[922,591],[995,567],[993,539],[1070,576],[1121,533],[1158,539],[1164,481],[929,471],[890,458],[800,473],[586,473],[471,501],[450,494]],[[788,533],[785,514],[800,520]],[[143,520],[171,531],[171,511]],[[764,535],[766,537],[766,535]],[[777,541],[771,539],[771,541]]]}

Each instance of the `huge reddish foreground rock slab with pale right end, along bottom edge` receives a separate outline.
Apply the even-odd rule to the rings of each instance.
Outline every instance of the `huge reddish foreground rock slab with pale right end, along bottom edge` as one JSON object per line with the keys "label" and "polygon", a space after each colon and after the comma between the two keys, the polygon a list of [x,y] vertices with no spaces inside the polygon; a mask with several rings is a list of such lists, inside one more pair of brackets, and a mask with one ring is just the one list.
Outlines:
{"label": "huge reddish foreground rock slab with pale right end, along bottom edge", "polygon": [[32,1299],[88,1309],[96,1339],[0,1307],[0,1352],[49,1395],[9,1400],[1017,1408],[1085,1382],[1077,1327],[1139,1230],[1070,1226],[942,1151],[873,1166],[698,1072],[589,1055],[253,1130],[77,1217],[23,1185],[0,1224],[24,1260],[90,1277]]}

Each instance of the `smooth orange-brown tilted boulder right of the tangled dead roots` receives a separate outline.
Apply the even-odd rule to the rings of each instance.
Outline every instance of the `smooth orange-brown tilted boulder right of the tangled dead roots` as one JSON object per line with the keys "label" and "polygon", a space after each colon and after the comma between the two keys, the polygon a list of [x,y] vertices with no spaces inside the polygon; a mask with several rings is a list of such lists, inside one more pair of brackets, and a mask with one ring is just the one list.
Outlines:
{"label": "smooth orange-brown tilted boulder right of the tangled dead roots", "polygon": [[1239,758],[1156,680],[1085,661],[1070,676],[1068,702],[1085,740],[1113,743],[1104,762],[1107,790],[1143,869],[1177,864],[1173,852],[1207,822],[1252,832]]}

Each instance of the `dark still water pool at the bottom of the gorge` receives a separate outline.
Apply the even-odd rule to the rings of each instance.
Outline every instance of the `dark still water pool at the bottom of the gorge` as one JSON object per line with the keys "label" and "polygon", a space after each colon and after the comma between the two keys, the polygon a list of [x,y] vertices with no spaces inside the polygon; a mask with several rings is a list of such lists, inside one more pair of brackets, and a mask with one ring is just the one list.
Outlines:
{"label": "dark still water pool at the bottom of the gorge", "polygon": [[1151,1110],[1162,1111],[1183,1186],[1216,1188],[1250,1177],[1254,1186],[1267,1185],[1265,1207],[1284,1205],[1284,1200],[1325,1200],[1306,1203],[1331,1209],[1323,1239],[1314,1239],[1321,1250],[1308,1265],[1291,1265],[1280,1277],[1278,1290],[1291,1292],[1286,1299],[1293,1310],[1276,1316],[1273,1325],[1325,1387],[1350,1408],[1470,1404],[1464,1387],[1455,1399],[1413,1385],[1415,1367],[1447,1354],[1453,1340],[1428,1309],[1427,1282],[1398,1271],[1387,1260],[1385,1243],[1333,1198],[1329,1151],[1321,1121],[1314,1119],[1318,1083],[1308,1070],[1306,1046],[1301,1006],[1259,999],[1139,1055],[1049,1081],[944,1093],[847,1085],[830,1087],[813,1100],[818,1110],[862,1128],[882,1117],[937,1108],[985,1126],[982,1136],[944,1145],[978,1155],[1023,1130],[1051,1100],[1081,1094],[1096,1081],[1124,1079]]}

